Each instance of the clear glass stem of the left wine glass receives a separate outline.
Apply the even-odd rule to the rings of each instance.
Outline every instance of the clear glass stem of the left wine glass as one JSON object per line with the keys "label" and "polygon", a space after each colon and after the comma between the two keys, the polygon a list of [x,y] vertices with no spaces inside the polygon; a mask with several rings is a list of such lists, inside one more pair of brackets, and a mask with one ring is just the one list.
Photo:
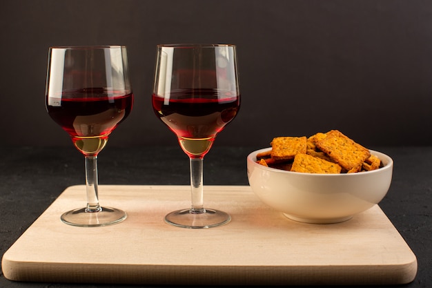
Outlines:
{"label": "clear glass stem of the left wine glass", "polygon": [[86,155],[86,212],[101,211],[97,195],[97,156]]}

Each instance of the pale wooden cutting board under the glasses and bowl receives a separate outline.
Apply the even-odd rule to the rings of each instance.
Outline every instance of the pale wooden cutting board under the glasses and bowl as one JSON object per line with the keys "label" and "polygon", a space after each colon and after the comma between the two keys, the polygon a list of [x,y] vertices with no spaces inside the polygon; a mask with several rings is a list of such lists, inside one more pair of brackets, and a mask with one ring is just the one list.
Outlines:
{"label": "pale wooden cutting board under the glasses and bowl", "polygon": [[99,186],[102,206],[128,218],[108,227],[63,224],[83,207],[70,186],[6,251],[9,280],[178,285],[378,285],[411,282],[417,259],[375,205],[337,224],[305,224],[259,201],[249,186],[205,186],[204,203],[232,216],[183,229],[166,213],[190,206],[189,186]]}

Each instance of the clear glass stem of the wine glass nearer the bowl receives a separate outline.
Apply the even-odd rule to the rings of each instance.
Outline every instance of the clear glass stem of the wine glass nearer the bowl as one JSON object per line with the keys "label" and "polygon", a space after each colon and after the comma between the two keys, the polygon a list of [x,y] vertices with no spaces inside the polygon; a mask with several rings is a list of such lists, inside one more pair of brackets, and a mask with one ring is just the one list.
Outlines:
{"label": "clear glass stem of the wine glass nearer the bowl", "polygon": [[192,207],[190,213],[205,213],[203,200],[203,158],[190,158],[190,189]]}

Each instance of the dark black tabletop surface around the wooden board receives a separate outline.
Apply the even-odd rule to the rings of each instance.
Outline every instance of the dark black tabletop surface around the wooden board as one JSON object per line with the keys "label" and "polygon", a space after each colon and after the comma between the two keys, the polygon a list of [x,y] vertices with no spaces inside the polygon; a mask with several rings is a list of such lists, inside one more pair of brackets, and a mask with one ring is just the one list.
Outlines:
{"label": "dark black tabletop surface around the wooden board", "polygon": [[[263,147],[215,145],[204,160],[204,185],[247,185],[246,156],[257,148]],[[432,287],[432,147],[369,148],[394,160],[392,184],[380,207],[418,259],[413,282],[394,287]],[[98,160],[99,184],[189,184],[188,158],[178,146],[119,148],[108,144]],[[1,147],[1,256],[64,189],[75,184],[84,184],[84,159],[72,146]],[[0,287],[131,286],[12,282],[1,273]]]}

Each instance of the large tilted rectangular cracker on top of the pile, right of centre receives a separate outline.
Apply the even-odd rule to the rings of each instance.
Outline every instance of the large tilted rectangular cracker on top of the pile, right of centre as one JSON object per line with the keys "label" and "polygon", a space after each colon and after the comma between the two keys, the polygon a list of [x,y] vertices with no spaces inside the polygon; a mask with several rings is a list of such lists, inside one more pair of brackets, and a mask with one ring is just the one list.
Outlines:
{"label": "large tilted rectangular cracker on top of the pile, right of centre", "polygon": [[361,169],[364,160],[371,156],[369,149],[337,130],[328,131],[326,137],[316,142],[316,146],[346,171],[352,171],[351,169],[359,166]]}

